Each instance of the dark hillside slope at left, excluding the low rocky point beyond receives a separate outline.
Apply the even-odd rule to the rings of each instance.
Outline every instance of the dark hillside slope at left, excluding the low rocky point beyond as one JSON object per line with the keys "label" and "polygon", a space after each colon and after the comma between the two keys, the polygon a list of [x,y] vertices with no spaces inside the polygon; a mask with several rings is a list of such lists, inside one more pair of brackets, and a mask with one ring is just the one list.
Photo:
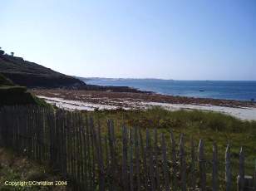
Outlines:
{"label": "dark hillside slope at left, excluding the low rocky point beyond", "polygon": [[0,54],[0,73],[15,84],[27,87],[84,86],[85,83],[21,57]]}

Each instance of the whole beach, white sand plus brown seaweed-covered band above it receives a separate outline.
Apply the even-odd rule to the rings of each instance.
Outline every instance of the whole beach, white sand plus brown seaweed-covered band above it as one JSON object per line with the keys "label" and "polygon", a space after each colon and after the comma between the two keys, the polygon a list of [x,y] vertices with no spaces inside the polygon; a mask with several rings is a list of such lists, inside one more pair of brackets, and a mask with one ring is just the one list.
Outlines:
{"label": "whole beach, white sand plus brown seaweed-covered band above it", "polygon": [[66,110],[145,110],[161,106],[166,110],[207,110],[232,115],[241,120],[256,120],[256,105],[237,100],[213,100],[158,94],[106,91],[34,90],[38,97]]}

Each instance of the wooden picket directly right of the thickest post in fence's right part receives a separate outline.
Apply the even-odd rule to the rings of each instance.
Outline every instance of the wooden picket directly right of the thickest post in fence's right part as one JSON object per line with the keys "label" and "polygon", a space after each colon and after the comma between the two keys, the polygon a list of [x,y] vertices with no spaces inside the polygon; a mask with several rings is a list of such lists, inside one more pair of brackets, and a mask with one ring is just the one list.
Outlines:
{"label": "wooden picket directly right of the thickest post in fence's right part", "polygon": [[218,181],[218,148],[217,144],[214,142],[213,145],[213,191],[219,190],[219,181]]}

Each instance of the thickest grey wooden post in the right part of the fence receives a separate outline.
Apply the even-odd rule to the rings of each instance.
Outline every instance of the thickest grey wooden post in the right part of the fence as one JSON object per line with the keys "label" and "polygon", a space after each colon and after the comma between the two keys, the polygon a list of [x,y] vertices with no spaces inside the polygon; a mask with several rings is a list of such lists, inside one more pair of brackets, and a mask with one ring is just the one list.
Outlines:
{"label": "thickest grey wooden post in the right part of the fence", "polygon": [[206,190],[206,174],[205,174],[205,159],[204,159],[204,141],[199,141],[199,183],[200,190]]}

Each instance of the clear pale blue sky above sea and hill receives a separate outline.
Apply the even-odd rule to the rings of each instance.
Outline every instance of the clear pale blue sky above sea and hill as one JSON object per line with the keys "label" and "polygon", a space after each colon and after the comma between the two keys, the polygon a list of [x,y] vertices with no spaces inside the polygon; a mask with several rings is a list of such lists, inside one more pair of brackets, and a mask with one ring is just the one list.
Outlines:
{"label": "clear pale blue sky above sea and hill", "polygon": [[8,0],[0,47],[68,75],[256,80],[255,0]]}

